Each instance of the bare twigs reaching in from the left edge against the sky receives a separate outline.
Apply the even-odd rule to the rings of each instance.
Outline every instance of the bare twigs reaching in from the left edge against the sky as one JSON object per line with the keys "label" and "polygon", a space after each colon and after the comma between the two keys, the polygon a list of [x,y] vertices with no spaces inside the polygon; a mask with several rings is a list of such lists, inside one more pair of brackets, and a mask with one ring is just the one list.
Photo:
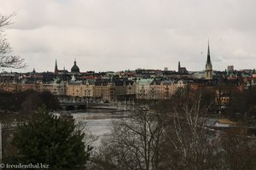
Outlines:
{"label": "bare twigs reaching in from the left edge against the sky", "polygon": [[11,18],[13,16],[14,14],[0,14],[0,68],[6,67],[20,69],[26,66],[26,64],[24,63],[24,59],[20,56],[9,55],[9,53],[11,52],[11,47],[5,35],[3,34],[3,27],[12,24]]}

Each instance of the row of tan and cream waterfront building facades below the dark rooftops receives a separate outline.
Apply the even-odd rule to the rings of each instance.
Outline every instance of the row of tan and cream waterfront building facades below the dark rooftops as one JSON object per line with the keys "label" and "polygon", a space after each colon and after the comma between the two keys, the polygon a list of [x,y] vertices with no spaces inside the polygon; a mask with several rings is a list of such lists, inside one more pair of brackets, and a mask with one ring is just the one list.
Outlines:
{"label": "row of tan and cream waterfront building facades below the dark rooftops", "polygon": [[185,80],[155,80],[153,78],[87,79],[86,81],[64,82],[24,82],[2,83],[1,88],[8,92],[22,92],[33,89],[38,92],[49,91],[57,96],[73,96],[113,101],[121,99],[170,99],[178,90],[186,88]]}

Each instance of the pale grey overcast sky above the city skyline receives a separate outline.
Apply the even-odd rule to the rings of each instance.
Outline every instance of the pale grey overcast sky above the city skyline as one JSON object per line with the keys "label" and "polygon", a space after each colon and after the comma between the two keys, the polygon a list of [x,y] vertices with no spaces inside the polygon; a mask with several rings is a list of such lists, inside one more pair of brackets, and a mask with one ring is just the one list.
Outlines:
{"label": "pale grey overcast sky above the city skyline", "polygon": [[[1,0],[23,71],[256,68],[255,0]],[[15,71],[15,70],[12,70]]]}

